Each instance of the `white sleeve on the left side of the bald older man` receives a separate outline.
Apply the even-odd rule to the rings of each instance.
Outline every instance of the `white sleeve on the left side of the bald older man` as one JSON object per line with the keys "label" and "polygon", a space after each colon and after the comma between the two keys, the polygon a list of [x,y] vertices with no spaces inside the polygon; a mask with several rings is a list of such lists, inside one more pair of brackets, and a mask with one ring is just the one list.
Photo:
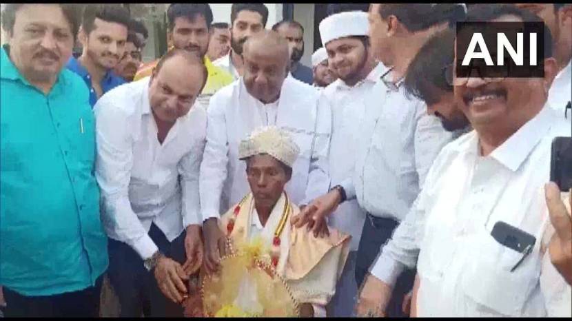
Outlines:
{"label": "white sleeve on the left side of the bald older man", "polygon": [[228,139],[225,118],[224,92],[212,96],[207,110],[207,142],[201,162],[199,184],[201,188],[202,220],[220,218],[223,185],[227,178]]}

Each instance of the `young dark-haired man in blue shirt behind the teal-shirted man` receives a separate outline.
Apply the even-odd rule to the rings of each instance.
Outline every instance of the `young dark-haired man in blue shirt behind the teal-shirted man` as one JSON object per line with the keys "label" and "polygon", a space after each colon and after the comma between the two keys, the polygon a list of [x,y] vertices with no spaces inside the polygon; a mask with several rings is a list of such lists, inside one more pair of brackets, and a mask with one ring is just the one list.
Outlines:
{"label": "young dark-haired man in blue shirt behind the teal-shirted man", "polygon": [[83,11],[79,41],[83,51],[70,58],[68,69],[79,74],[90,90],[90,104],[125,81],[112,72],[119,63],[130,27],[129,12],[115,4],[88,4]]}

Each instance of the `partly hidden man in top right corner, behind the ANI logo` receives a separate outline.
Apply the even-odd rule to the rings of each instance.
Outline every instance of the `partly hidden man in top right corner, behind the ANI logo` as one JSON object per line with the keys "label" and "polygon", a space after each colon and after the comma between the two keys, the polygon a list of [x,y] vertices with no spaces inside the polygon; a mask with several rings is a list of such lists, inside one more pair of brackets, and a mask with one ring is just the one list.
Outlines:
{"label": "partly hidden man in top right corner, behind the ANI logo", "polygon": [[572,3],[516,3],[515,6],[536,14],[549,28],[558,74],[550,87],[550,107],[564,111],[572,99]]}

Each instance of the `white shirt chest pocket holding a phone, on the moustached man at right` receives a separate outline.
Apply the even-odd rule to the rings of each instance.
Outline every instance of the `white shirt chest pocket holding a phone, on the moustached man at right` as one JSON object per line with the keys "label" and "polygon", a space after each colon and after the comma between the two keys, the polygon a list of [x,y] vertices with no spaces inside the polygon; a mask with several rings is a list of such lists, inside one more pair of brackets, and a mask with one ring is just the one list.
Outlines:
{"label": "white shirt chest pocket holding a phone, on the moustached man at right", "polygon": [[[538,240],[532,253],[511,272],[522,253],[500,245],[485,231],[473,236],[469,258],[461,275],[461,287],[466,296],[502,315],[518,316],[538,285],[540,266]],[[471,258],[473,260],[471,260]]]}

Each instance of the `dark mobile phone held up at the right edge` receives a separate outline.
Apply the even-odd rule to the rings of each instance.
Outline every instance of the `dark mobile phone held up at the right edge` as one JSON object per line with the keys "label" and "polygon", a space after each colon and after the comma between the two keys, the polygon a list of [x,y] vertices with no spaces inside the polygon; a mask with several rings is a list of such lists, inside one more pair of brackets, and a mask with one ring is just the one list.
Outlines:
{"label": "dark mobile phone held up at the right edge", "polygon": [[558,185],[560,191],[569,191],[572,188],[571,137],[555,137],[552,141],[550,180]]}

